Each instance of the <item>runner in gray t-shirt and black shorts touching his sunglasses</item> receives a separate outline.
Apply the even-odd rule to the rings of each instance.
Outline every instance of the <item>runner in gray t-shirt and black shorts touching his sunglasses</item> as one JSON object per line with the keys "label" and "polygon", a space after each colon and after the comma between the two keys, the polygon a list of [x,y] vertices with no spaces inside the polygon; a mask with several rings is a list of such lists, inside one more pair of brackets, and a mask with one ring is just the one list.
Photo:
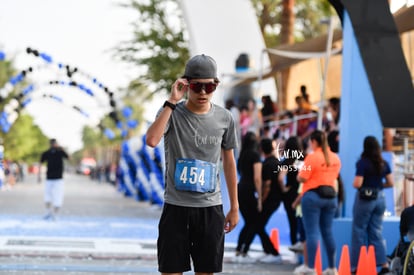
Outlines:
{"label": "runner in gray t-shirt and black shorts touching his sunglasses", "polygon": [[[239,220],[235,122],[228,110],[211,102],[218,84],[214,59],[192,57],[146,133],[147,145],[155,147],[163,137],[165,144],[165,204],[157,240],[161,274],[182,274],[191,270],[191,262],[196,275],[221,272],[225,233]],[[227,215],[220,159],[230,201]]]}

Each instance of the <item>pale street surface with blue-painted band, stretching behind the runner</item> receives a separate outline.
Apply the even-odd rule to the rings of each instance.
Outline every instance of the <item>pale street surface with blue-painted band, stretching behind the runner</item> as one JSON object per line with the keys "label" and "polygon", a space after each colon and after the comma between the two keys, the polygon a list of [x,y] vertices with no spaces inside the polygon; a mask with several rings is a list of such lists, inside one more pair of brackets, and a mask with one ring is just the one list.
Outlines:
{"label": "pale street surface with blue-painted band, stretching behind the runner", "polygon": [[[0,274],[159,274],[159,207],[84,176],[65,175],[65,182],[64,207],[53,222],[42,219],[43,185],[33,176],[0,191]],[[226,241],[222,274],[292,274],[286,247],[283,265],[233,264],[234,247]],[[251,256],[261,253],[254,244]]]}

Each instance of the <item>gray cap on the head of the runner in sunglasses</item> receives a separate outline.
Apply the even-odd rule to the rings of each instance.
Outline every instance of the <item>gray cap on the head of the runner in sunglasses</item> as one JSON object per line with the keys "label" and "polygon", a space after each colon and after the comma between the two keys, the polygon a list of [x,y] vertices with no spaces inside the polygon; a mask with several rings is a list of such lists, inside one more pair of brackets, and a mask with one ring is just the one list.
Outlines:
{"label": "gray cap on the head of the runner in sunglasses", "polygon": [[196,55],[185,65],[184,78],[217,78],[217,64],[208,55]]}

